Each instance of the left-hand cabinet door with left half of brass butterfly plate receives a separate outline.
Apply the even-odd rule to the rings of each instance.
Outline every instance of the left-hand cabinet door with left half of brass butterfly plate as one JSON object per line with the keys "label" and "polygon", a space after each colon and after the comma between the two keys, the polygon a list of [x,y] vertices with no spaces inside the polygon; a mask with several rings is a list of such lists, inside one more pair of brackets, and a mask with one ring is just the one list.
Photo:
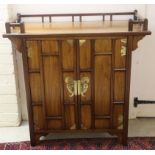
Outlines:
{"label": "left-hand cabinet door with left half of brass butterfly plate", "polygon": [[27,47],[34,129],[76,129],[77,101],[69,89],[76,79],[74,41],[27,41]]}

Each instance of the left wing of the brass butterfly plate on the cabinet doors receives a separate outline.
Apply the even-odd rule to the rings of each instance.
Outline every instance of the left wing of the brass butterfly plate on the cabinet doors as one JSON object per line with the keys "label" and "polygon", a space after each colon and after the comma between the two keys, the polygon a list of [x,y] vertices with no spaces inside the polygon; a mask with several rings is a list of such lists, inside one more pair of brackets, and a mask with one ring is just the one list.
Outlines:
{"label": "left wing of the brass butterfly plate on the cabinet doors", "polygon": [[65,83],[67,86],[67,90],[70,93],[70,97],[73,97],[76,93],[75,93],[75,81],[71,78],[71,77],[66,77],[65,78]]}

